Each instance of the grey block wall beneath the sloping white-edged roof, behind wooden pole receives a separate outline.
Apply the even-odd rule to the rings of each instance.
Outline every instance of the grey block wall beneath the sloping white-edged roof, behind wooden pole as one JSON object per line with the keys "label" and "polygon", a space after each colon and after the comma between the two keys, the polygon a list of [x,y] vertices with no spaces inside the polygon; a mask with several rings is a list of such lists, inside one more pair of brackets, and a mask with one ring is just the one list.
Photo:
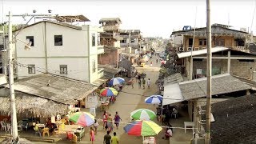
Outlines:
{"label": "grey block wall beneath the sloping white-edged roof, behind wooden pole", "polygon": [[[255,62],[239,62],[238,60],[231,60],[230,63],[230,74],[234,74],[243,78],[251,77],[250,75],[255,70]],[[197,69],[202,69],[203,74],[206,75],[206,59],[202,61],[194,61],[194,74],[196,74]],[[213,70],[220,70],[221,74],[227,72],[227,60],[213,59],[212,61]],[[252,69],[250,69],[252,68]]]}

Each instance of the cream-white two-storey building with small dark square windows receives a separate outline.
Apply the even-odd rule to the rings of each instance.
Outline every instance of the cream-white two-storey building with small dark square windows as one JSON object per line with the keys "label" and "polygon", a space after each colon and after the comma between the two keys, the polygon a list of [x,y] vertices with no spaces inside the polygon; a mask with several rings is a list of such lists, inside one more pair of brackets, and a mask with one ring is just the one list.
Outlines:
{"label": "cream-white two-storey building with small dark square windows", "polygon": [[[30,50],[24,50],[23,42],[16,42],[18,78],[50,73],[94,82],[103,76],[98,70],[98,26],[74,26],[67,23],[42,21],[26,26],[17,38],[32,42]],[[18,33],[18,30],[14,32]]]}

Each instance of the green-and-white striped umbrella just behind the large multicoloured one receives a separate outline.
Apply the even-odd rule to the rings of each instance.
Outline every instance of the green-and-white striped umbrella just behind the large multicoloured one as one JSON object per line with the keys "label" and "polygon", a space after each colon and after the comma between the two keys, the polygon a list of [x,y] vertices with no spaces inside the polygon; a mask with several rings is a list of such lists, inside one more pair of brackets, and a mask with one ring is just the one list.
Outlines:
{"label": "green-and-white striped umbrella just behind the large multicoloured one", "polygon": [[157,115],[152,110],[138,109],[130,113],[130,117],[135,120],[152,120],[157,118]]}

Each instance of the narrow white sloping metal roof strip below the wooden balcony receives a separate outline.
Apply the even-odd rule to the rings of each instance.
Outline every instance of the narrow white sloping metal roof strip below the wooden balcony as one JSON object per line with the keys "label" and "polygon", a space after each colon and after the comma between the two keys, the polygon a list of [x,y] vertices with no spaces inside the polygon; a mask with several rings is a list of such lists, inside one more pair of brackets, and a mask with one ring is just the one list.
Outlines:
{"label": "narrow white sloping metal roof strip below the wooden balcony", "polygon": [[[216,53],[216,52],[225,51],[225,50],[229,50],[229,48],[222,47],[222,46],[217,46],[217,47],[211,48],[211,53]],[[207,49],[192,51],[192,56],[201,55],[201,54],[207,54]],[[177,55],[178,55],[178,58],[191,57],[191,51],[183,52],[183,53],[180,53],[180,54],[177,54]]]}

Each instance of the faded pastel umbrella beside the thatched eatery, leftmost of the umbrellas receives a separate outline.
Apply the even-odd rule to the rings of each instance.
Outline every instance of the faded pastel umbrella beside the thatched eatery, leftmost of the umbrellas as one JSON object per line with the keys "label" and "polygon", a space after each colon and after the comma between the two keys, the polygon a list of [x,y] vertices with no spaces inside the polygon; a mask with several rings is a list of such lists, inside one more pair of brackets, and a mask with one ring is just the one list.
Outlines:
{"label": "faded pastel umbrella beside the thatched eatery, leftmost of the umbrellas", "polygon": [[79,126],[91,126],[94,124],[94,116],[87,112],[76,112],[70,115],[70,121],[77,123]]}

